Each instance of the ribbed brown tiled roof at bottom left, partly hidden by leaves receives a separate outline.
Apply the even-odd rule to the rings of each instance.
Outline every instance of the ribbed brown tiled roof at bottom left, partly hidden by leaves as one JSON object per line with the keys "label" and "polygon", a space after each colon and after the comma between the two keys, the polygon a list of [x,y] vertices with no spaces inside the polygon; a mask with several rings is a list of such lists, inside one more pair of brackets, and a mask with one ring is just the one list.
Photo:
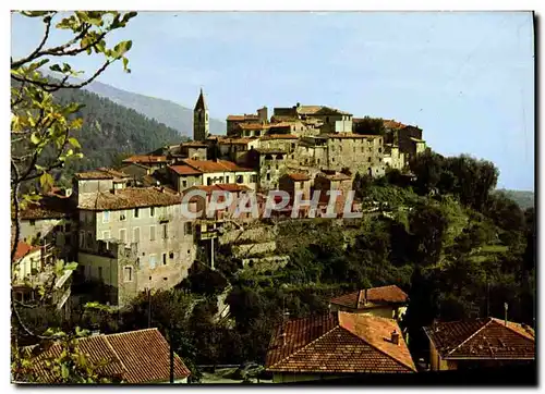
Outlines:
{"label": "ribbed brown tiled roof at bottom left, partly hidden by leaves", "polygon": [[[169,344],[157,329],[89,336],[80,340],[78,345],[90,362],[105,364],[99,367],[101,374],[121,378],[123,382],[133,384],[169,381]],[[60,352],[61,346],[55,344],[41,353],[33,366],[34,374],[44,382],[55,383],[43,361],[58,357]],[[174,355],[174,379],[190,374],[182,359]]]}

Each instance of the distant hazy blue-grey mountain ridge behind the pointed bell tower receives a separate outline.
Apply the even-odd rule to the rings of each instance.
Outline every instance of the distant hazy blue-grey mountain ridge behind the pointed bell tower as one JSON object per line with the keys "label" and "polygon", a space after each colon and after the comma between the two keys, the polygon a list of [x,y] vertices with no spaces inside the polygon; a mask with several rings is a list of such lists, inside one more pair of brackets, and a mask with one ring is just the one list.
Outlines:
{"label": "distant hazy blue-grey mountain ridge behind the pointed bell tower", "polygon": [[[181,135],[187,137],[192,137],[193,135],[193,109],[180,106],[170,100],[118,89],[99,82],[92,83],[86,89],[101,97],[107,97],[123,107],[132,108],[148,118],[162,122],[169,127],[175,128]],[[195,100],[197,96],[195,93]],[[210,118],[210,133],[225,134],[226,124]]]}

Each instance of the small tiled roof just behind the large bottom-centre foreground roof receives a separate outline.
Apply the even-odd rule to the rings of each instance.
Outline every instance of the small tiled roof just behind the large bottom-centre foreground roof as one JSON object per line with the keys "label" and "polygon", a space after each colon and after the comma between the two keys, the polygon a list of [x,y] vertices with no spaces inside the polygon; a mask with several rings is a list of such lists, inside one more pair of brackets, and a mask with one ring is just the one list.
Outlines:
{"label": "small tiled roof just behind the large bottom-centre foreground roof", "polygon": [[[365,290],[342,294],[338,297],[331,298],[330,303],[341,305],[348,308],[363,308],[363,300],[365,299]],[[376,304],[403,304],[408,301],[408,295],[398,286],[380,286],[367,288],[367,303]]]}

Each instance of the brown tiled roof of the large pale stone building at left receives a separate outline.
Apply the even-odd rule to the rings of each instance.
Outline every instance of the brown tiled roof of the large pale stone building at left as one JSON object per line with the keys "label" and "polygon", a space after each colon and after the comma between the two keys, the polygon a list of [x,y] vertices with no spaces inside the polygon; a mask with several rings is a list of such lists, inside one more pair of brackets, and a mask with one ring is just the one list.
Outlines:
{"label": "brown tiled roof of the large pale stone building at left", "polygon": [[77,208],[88,210],[116,210],[141,207],[172,206],[181,202],[181,197],[161,192],[157,187],[126,187],[111,192],[82,194]]}

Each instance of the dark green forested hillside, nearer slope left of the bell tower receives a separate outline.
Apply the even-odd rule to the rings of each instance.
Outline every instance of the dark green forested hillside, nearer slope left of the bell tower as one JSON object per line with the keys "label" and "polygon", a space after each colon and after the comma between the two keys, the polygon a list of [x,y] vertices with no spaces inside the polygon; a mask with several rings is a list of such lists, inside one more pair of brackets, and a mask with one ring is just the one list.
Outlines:
{"label": "dark green forested hillside, nearer slope left of the bell tower", "polygon": [[76,171],[116,165],[129,155],[149,152],[182,140],[174,128],[93,93],[63,89],[55,93],[55,97],[61,102],[84,104],[77,112],[83,127],[73,133],[84,157],[66,165],[62,172],[64,180]]}

